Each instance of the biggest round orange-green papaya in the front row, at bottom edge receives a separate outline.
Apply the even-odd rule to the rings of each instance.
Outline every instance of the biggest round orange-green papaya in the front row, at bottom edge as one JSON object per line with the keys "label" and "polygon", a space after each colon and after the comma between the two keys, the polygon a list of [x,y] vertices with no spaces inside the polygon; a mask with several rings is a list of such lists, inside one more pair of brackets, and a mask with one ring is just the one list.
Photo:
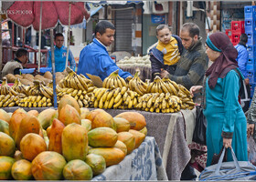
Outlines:
{"label": "biggest round orange-green papaya in the front row, at bottom edge", "polygon": [[36,180],[60,180],[67,162],[59,153],[41,152],[32,161],[32,175]]}

